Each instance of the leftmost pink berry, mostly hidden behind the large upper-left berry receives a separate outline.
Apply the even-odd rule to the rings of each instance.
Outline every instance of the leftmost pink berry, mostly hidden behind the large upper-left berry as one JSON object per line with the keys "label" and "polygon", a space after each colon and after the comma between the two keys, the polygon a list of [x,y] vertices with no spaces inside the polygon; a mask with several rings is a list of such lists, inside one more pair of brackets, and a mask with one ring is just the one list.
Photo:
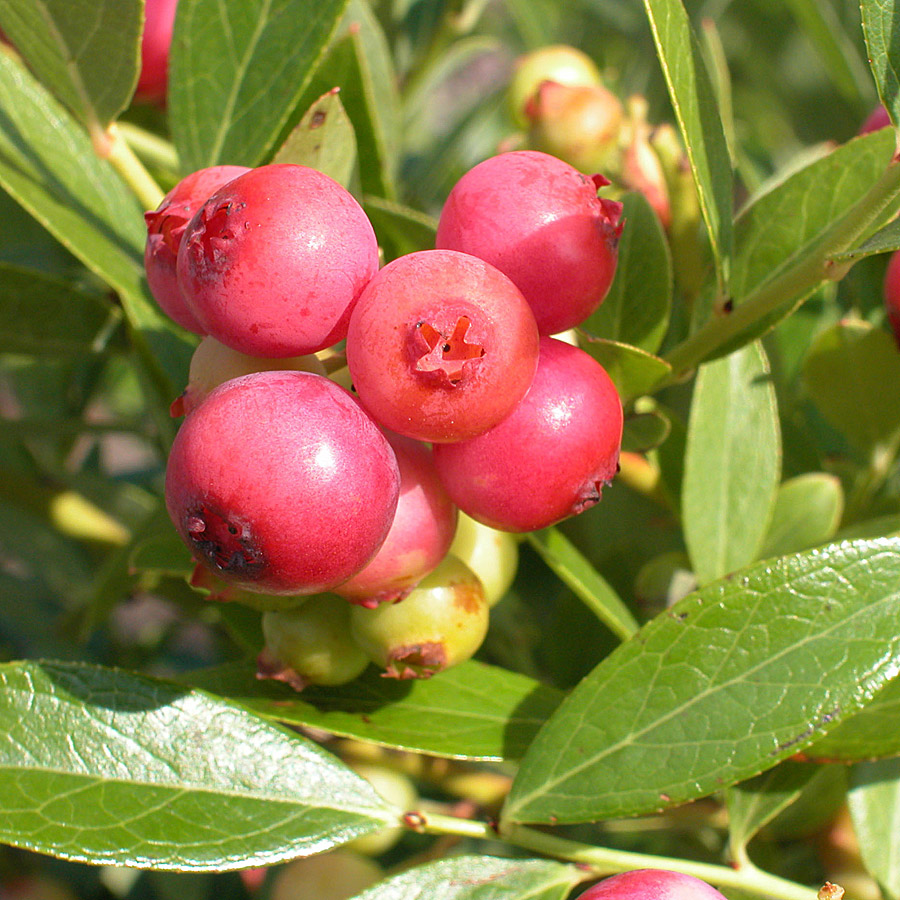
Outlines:
{"label": "leftmost pink berry, mostly hidden behind the large upper-left berry", "polygon": [[175,261],[178,258],[181,236],[194,213],[209,199],[210,194],[249,171],[246,166],[199,169],[179,181],[155,210],[144,213],[144,221],[147,223],[144,269],[150,293],[170,319],[194,334],[206,332],[187,308],[178,287]]}

